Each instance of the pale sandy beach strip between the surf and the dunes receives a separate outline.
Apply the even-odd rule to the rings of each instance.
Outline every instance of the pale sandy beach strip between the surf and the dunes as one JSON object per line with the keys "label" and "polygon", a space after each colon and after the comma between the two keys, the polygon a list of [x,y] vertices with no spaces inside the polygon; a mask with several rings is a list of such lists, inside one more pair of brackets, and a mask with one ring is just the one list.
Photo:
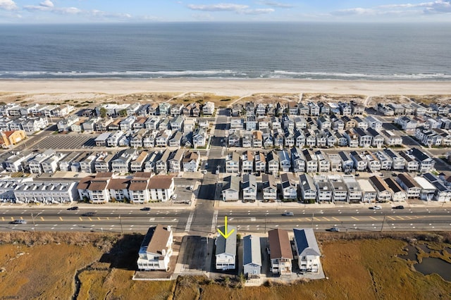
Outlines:
{"label": "pale sandy beach strip between the surf and the dunes", "polygon": [[257,93],[328,93],[382,95],[451,94],[447,81],[364,81],[283,79],[149,79],[149,80],[0,80],[0,92],[20,94],[205,92],[247,96]]}

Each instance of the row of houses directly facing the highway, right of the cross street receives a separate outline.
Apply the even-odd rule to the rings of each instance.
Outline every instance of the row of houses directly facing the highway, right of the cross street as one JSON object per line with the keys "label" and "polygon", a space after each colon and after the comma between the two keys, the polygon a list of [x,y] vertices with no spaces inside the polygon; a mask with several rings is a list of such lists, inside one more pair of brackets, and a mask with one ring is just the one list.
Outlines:
{"label": "row of houses directly facing the highway, right of the cross street", "polygon": [[[258,191],[261,191],[259,196]],[[307,203],[347,202],[349,204],[387,201],[406,201],[422,199],[426,201],[447,202],[451,200],[451,185],[443,178],[431,173],[422,177],[411,177],[400,173],[397,177],[356,180],[353,175],[299,175],[283,173],[280,179],[273,175],[257,177],[245,174],[242,177],[231,175],[224,178],[222,186],[223,201],[276,201],[276,199],[302,201]]]}

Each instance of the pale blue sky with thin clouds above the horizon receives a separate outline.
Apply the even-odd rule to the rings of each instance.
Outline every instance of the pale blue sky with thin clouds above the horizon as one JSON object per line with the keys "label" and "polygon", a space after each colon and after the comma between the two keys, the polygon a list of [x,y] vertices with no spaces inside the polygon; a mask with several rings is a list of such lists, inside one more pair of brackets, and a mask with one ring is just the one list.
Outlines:
{"label": "pale blue sky with thin clouds above the horizon", "polygon": [[0,23],[451,22],[445,0],[0,0]]}

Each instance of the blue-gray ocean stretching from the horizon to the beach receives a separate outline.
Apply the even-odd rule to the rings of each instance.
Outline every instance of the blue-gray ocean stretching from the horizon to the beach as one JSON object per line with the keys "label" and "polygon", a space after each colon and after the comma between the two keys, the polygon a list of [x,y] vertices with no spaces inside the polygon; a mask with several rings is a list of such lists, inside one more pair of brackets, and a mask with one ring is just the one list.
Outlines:
{"label": "blue-gray ocean stretching from the horizon to the beach", "polygon": [[0,79],[451,80],[451,23],[0,25]]}

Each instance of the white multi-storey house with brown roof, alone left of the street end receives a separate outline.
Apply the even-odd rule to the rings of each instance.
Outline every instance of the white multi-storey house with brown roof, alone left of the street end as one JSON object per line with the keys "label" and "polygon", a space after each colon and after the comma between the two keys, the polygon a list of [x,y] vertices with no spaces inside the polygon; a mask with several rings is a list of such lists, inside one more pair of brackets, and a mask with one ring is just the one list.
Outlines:
{"label": "white multi-storey house with brown roof, alone left of the street end", "polygon": [[150,227],[142,241],[137,265],[140,271],[168,270],[172,250],[173,232],[171,226]]}

